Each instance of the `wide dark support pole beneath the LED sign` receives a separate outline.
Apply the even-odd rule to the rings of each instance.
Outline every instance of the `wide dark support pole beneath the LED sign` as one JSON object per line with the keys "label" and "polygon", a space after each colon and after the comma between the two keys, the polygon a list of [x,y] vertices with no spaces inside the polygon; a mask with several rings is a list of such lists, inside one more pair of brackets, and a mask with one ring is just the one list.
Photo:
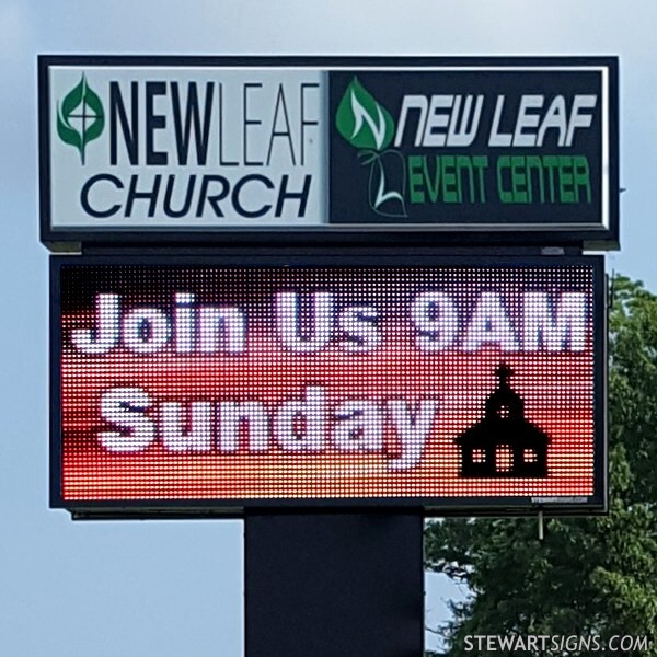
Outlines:
{"label": "wide dark support pole beneath the LED sign", "polygon": [[423,519],[251,512],[246,657],[424,654]]}

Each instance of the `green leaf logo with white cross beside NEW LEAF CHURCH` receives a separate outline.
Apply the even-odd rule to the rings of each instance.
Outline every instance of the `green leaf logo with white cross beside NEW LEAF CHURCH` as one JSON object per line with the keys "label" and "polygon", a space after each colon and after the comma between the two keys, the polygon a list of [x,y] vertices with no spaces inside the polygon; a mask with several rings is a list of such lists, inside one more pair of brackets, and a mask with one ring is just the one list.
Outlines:
{"label": "green leaf logo with white cross beside NEW LEAF CHURCH", "polygon": [[104,127],[103,103],[82,73],[79,84],[57,105],[57,134],[61,141],[78,149],[84,164],[87,145],[97,139]]}

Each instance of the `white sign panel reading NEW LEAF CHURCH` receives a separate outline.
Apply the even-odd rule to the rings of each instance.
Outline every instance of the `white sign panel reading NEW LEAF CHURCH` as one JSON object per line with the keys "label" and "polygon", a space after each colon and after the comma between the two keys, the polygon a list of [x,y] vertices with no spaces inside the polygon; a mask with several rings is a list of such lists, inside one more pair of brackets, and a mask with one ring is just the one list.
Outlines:
{"label": "white sign panel reading NEW LEAF CHURCH", "polygon": [[54,228],[323,221],[316,70],[51,67]]}

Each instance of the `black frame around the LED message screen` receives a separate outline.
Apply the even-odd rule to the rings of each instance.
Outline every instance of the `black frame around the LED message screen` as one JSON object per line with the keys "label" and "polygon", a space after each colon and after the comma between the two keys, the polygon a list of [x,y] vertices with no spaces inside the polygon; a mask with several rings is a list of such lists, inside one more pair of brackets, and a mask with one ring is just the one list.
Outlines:
{"label": "black frame around the LED message screen", "polygon": [[[205,265],[253,267],[339,267],[339,266],[577,266],[589,265],[593,272],[592,359],[593,359],[593,494],[588,497],[522,497],[476,496],[431,498],[349,498],[349,499],[126,499],[126,500],[65,500],[61,495],[61,303],[60,272],[62,266],[76,265]],[[548,516],[578,516],[606,514],[608,507],[608,445],[607,445],[607,277],[602,256],[481,256],[473,263],[466,256],[419,255],[392,256],[364,252],[359,255],[297,254],[269,252],[221,253],[214,256],[96,255],[50,257],[50,507],[67,509],[78,519],[128,518],[217,518],[243,517],[262,509],[266,511],[414,511],[431,516],[523,516],[538,511]]]}

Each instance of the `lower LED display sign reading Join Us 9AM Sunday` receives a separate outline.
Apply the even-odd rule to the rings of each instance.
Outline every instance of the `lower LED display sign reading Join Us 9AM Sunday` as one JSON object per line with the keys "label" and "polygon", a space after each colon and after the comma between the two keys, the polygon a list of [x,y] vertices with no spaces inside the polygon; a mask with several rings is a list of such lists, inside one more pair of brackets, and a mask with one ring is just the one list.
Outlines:
{"label": "lower LED display sign reading Join Us 9AM Sunday", "polygon": [[51,505],[604,506],[600,257],[54,257]]}

